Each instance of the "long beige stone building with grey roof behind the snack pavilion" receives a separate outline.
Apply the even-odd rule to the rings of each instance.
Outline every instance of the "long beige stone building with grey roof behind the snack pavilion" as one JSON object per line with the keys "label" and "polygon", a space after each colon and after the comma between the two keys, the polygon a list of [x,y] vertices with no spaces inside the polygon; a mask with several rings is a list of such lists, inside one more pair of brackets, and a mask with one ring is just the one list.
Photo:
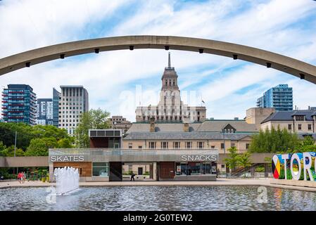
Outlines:
{"label": "long beige stone building with grey roof behind the snack pavilion", "polygon": [[[122,148],[130,150],[218,150],[228,153],[235,146],[239,153],[248,150],[251,135],[258,132],[255,124],[245,120],[205,120],[204,122],[136,122],[122,139]],[[129,165],[125,171],[137,174],[139,167]],[[225,164],[217,164],[224,172]],[[146,171],[144,167],[144,171]]]}

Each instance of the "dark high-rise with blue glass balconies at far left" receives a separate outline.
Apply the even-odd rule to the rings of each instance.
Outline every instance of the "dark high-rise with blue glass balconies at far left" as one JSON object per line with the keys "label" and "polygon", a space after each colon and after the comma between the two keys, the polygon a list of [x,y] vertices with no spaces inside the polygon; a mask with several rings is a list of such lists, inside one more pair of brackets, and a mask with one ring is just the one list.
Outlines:
{"label": "dark high-rise with blue glass balconies at far left", "polygon": [[36,94],[27,84],[8,84],[2,92],[2,116],[5,122],[25,122],[34,125],[36,121]]}

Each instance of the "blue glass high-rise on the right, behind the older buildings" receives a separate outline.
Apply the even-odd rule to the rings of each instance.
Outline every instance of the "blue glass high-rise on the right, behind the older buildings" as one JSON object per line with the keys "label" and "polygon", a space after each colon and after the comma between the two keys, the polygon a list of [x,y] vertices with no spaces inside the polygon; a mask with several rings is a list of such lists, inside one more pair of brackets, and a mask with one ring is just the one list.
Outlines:
{"label": "blue glass high-rise on the right, behind the older buildings", "polygon": [[263,96],[258,98],[257,107],[275,108],[277,111],[293,110],[293,90],[287,84],[279,84],[272,89],[265,91]]}

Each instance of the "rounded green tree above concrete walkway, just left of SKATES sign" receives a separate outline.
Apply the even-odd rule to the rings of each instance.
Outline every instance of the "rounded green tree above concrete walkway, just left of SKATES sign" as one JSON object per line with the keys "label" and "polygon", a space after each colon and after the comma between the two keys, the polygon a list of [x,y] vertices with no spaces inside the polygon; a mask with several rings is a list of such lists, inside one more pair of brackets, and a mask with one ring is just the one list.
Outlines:
{"label": "rounded green tree above concrete walkway, just left of SKATES sign", "polygon": [[56,148],[58,143],[55,138],[32,139],[30,146],[25,151],[26,156],[46,156],[49,155],[49,148]]}

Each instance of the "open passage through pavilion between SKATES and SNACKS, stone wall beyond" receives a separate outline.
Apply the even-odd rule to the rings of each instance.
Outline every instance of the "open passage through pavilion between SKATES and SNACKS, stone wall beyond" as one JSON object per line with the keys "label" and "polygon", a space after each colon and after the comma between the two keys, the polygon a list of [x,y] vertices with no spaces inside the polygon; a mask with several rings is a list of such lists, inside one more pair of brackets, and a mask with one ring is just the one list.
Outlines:
{"label": "open passage through pavilion between SKATES and SNACKS, stone wall beyond", "polygon": [[132,174],[135,174],[135,181],[156,181],[156,162],[123,162],[122,180],[130,181]]}

